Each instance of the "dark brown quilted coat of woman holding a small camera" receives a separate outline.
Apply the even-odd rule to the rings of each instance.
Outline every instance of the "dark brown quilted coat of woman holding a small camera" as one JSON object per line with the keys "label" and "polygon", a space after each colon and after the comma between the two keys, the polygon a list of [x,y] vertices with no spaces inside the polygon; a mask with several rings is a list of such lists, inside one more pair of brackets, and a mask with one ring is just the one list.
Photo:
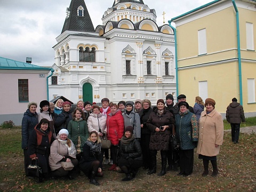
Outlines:
{"label": "dark brown quilted coat of woman holding a small camera", "polygon": [[[156,127],[169,125],[169,129],[156,132]],[[157,109],[150,113],[147,127],[151,131],[149,149],[150,150],[169,150],[169,140],[171,129],[174,126],[174,118],[172,113],[164,110],[163,116],[157,116]]]}

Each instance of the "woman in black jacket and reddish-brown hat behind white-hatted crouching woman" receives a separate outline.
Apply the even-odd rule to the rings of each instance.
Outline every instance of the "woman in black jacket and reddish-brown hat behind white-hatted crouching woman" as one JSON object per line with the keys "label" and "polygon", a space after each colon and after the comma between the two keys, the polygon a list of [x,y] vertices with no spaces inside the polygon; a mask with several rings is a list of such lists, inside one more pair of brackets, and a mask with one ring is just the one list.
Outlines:
{"label": "woman in black jacket and reddish-brown hat behind white-hatted crouching woman", "polygon": [[54,123],[56,134],[58,134],[61,129],[68,129],[68,123],[73,119],[70,111],[71,103],[68,101],[63,102],[62,108],[62,113],[58,115]]}

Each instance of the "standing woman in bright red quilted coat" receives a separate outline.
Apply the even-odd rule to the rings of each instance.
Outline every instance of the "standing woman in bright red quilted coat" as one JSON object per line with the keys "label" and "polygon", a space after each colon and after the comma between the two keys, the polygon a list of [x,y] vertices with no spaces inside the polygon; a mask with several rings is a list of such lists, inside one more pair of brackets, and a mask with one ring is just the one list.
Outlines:
{"label": "standing woman in bright red quilted coat", "polygon": [[115,171],[118,143],[124,135],[124,118],[122,116],[121,110],[118,109],[118,106],[115,103],[110,105],[110,111],[111,113],[108,114],[106,126],[107,136],[111,141],[110,154],[113,158],[113,165],[108,170]]}

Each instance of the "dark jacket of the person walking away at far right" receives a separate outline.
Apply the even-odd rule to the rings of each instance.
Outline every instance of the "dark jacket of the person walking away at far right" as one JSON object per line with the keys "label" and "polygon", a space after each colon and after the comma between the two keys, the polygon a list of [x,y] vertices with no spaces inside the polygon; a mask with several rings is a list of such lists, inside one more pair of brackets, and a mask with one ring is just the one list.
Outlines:
{"label": "dark jacket of the person walking away at far right", "polygon": [[245,122],[243,106],[236,101],[231,102],[227,107],[226,118],[229,123],[240,124],[241,121]]}

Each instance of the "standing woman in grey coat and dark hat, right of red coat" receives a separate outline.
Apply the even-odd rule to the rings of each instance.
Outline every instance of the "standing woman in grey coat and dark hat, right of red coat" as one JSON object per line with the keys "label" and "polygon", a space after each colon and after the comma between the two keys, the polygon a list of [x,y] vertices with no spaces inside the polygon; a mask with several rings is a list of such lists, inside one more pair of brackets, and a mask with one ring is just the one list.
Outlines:
{"label": "standing woman in grey coat and dark hat, right of red coat", "polygon": [[140,116],[138,113],[135,113],[133,109],[132,101],[126,101],[125,108],[126,110],[123,113],[124,127],[132,126],[135,139],[140,139],[140,136],[141,136]]}

